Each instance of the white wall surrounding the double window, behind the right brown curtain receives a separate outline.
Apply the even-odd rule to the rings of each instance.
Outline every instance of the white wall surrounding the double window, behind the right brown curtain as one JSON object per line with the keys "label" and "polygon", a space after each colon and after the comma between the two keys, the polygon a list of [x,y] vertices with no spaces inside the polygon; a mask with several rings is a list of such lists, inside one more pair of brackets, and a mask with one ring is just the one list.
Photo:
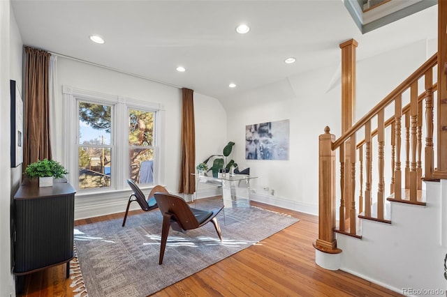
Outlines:
{"label": "white wall surrounding the double window, behind the right brown curtain", "polygon": [[[180,128],[182,121],[182,91],[176,87],[151,82],[147,79],[119,73],[91,64],[59,56],[57,61],[57,80],[59,93],[57,100],[62,100],[62,86],[122,96],[141,101],[155,102],[163,105],[165,150],[164,175],[159,181],[170,192],[177,192],[179,186],[180,162]],[[62,109],[62,104],[59,104]],[[205,155],[219,152],[226,144],[226,112],[215,98],[194,93],[196,114],[196,162]],[[57,112],[57,124],[64,125],[63,110]],[[61,135],[61,137],[63,137]],[[62,153],[61,147],[56,153]],[[200,160],[200,161],[199,161]],[[129,189],[130,190],[130,189]],[[116,192],[112,196],[94,199],[77,197],[75,200],[75,218],[88,218],[106,213],[122,212],[126,208],[129,192]],[[97,199],[96,199],[97,198]],[[93,205],[92,205],[93,204]],[[135,204],[134,209],[138,208]]]}

